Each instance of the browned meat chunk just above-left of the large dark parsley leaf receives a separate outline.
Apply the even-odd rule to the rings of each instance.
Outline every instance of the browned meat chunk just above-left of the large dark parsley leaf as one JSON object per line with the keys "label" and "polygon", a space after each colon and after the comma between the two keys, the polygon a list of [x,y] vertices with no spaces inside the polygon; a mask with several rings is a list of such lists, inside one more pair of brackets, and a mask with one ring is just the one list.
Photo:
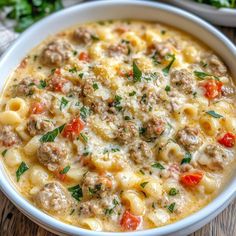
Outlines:
{"label": "browned meat chunk just above-left of the large dark parsley leaf", "polygon": [[27,122],[27,130],[31,136],[43,134],[53,127],[53,123],[42,115],[32,115]]}

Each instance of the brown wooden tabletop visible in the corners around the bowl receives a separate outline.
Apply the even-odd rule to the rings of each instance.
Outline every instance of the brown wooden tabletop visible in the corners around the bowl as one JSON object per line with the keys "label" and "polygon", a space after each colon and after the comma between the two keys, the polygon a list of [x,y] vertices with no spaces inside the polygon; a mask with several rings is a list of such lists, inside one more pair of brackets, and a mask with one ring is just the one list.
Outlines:
{"label": "brown wooden tabletop visible in the corners around the bowl", "polygon": [[[236,28],[223,28],[236,44]],[[233,236],[236,235],[236,200],[218,217],[191,236]],[[55,236],[25,217],[0,191],[0,236]]]}

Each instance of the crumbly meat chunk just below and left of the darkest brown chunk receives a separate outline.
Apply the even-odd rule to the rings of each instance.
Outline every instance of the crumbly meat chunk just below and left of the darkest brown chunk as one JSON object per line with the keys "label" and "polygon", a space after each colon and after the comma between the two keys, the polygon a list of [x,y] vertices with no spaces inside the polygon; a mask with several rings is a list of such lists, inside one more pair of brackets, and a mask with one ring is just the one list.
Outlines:
{"label": "crumbly meat chunk just below and left of the darkest brown chunk", "polygon": [[129,158],[136,164],[145,164],[153,160],[153,153],[146,142],[135,142],[129,148]]}

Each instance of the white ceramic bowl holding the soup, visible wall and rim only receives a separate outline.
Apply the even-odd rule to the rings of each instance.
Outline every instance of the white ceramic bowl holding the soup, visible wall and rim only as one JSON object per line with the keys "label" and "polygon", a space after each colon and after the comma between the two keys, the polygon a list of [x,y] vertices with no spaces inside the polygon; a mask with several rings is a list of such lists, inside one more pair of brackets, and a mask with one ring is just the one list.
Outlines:
{"label": "white ceramic bowl holding the soup, visible wall and rim only", "polygon": [[[127,18],[158,21],[192,34],[215,50],[224,59],[233,77],[236,78],[236,48],[223,34],[205,21],[185,11],[164,4],[115,0],[77,5],[55,13],[28,29],[1,58],[0,88],[3,88],[6,79],[21,59],[49,35],[77,23]],[[49,231],[60,235],[183,236],[196,231],[208,223],[229,204],[236,195],[236,178],[235,176],[232,177],[227,186],[209,205],[185,219],[160,228],[130,233],[99,233],[71,226],[52,218],[34,207],[17,192],[9,180],[2,162],[0,162],[0,187],[5,195],[26,216]]]}

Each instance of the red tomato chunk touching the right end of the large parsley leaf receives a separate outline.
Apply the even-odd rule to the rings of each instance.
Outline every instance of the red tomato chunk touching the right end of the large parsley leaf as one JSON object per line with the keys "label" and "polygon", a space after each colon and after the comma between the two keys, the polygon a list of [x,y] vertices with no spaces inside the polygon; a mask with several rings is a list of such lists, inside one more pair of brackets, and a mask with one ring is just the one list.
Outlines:
{"label": "red tomato chunk touching the right end of the large parsley leaf", "polygon": [[84,122],[80,118],[74,118],[69,124],[63,129],[62,135],[65,138],[71,140],[75,139],[80,132],[84,129]]}

